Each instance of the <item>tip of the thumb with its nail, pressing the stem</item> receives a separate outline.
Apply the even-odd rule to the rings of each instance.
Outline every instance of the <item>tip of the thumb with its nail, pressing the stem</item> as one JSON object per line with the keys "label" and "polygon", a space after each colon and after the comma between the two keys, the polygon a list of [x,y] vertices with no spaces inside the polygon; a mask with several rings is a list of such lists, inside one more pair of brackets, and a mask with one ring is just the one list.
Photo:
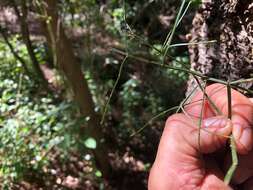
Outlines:
{"label": "tip of the thumb with its nail, pressing the stem", "polygon": [[193,134],[189,135],[189,143],[201,153],[212,153],[225,145],[232,132],[232,122],[224,116],[204,119],[201,128],[195,126]]}

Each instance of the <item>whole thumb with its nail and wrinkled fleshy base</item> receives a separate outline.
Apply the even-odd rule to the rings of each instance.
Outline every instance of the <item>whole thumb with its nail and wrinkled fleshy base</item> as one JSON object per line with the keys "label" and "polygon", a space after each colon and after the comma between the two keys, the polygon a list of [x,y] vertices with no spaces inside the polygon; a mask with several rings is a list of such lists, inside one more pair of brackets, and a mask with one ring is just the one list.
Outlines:
{"label": "whole thumb with its nail and wrinkled fleshy base", "polygon": [[[202,127],[209,132],[201,131],[200,150],[209,153],[224,146],[227,139],[222,135],[232,131],[231,122],[224,117],[204,121]],[[167,120],[150,172],[149,190],[229,189],[217,177],[218,171],[207,169],[200,159],[198,134],[198,127],[183,114],[175,114]]]}

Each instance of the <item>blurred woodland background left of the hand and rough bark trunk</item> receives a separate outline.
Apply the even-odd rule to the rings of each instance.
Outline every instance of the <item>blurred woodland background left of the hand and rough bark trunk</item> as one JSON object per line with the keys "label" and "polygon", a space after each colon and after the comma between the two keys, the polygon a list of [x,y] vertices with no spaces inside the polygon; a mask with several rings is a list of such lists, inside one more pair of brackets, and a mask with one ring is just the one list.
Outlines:
{"label": "blurred woodland background left of the hand and rough bark trunk", "polygon": [[[155,64],[190,66],[187,46],[159,53],[180,5],[0,0],[2,189],[147,188],[164,110],[187,87],[187,74]],[[198,5],[171,44],[187,42]]]}

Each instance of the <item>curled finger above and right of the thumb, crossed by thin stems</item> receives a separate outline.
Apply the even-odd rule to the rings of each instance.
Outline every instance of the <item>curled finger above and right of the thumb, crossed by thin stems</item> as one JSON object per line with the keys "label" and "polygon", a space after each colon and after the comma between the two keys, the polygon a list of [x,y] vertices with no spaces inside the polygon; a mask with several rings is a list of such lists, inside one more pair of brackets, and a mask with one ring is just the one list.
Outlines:
{"label": "curled finger above and right of the thumb, crossed by thin stems", "polygon": [[[216,107],[225,116],[228,116],[228,98],[225,85],[213,84],[206,88],[206,94]],[[203,93],[198,92],[192,99],[193,104],[186,106],[186,111],[189,115],[199,118],[202,110]],[[232,123],[233,135],[235,137],[237,151],[241,154],[246,154],[252,149],[253,145],[253,104],[252,102],[236,90],[231,91],[232,98]],[[217,115],[211,103],[206,100],[204,104],[203,118]]]}

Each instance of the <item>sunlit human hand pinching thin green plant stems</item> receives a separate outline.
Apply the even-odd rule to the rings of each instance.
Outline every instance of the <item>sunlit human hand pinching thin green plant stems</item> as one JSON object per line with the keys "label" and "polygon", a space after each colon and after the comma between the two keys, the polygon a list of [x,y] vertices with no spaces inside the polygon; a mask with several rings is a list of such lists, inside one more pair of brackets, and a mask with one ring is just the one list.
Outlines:
{"label": "sunlit human hand pinching thin green plant stems", "polygon": [[204,101],[199,133],[203,93],[198,92],[185,107],[186,114],[168,118],[150,172],[149,190],[231,189],[223,182],[224,167],[230,165],[225,145],[231,133],[240,154],[233,182],[243,184],[245,190],[253,188],[253,166],[249,167],[253,160],[253,104],[232,90],[230,121],[227,119],[226,87],[213,84],[206,88],[206,93],[222,115],[215,113],[211,104]]}

